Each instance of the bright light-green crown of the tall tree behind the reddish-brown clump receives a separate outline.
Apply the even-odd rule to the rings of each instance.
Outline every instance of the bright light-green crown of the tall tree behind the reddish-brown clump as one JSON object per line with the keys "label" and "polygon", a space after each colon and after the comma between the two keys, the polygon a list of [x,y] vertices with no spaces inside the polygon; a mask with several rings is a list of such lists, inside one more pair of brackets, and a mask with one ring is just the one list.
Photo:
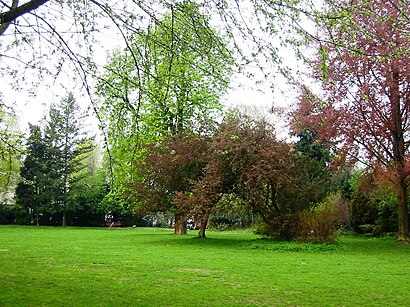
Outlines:
{"label": "bright light-green crown of the tall tree behind the reddish-brown clump", "polygon": [[126,165],[139,142],[198,130],[221,108],[232,57],[209,23],[197,4],[176,3],[147,30],[132,33],[129,48],[106,65],[100,114],[125,173],[132,173]]}

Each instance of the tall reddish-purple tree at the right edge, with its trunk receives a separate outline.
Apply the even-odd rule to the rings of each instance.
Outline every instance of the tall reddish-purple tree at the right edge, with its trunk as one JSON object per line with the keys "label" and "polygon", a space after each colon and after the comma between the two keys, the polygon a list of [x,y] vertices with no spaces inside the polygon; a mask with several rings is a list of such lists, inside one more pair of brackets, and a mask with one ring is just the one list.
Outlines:
{"label": "tall reddish-purple tree at the right edge, with its trunk", "polygon": [[302,86],[293,129],[309,127],[337,145],[341,158],[365,161],[390,179],[398,240],[408,242],[410,6],[349,0],[328,8],[333,18],[321,24],[312,61],[322,91],[315,95]]}

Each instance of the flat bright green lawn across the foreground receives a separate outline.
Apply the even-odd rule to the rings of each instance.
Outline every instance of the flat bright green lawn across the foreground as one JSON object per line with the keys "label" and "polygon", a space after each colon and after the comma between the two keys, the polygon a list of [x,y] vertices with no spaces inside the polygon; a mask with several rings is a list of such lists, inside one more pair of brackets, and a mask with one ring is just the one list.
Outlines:
{"label": "flat bright green lawn across the foreground", "polygon": [[0,226],[0,306],[409,306],[393,238]]}

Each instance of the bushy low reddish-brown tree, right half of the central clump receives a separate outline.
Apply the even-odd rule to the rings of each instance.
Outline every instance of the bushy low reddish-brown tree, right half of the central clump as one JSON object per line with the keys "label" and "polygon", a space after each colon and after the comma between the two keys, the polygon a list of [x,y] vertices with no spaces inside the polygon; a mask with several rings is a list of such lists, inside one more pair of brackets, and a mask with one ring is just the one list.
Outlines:
{"label": "bushy low reddish-brown tree, right half of the central clump", "polygon": [[298,214],[323,200],[330,178],[323,167],[276,139],[264,120],[229,118],[214,138],[225,193],[247,202],[267,225],[266,234],[297,236]]}

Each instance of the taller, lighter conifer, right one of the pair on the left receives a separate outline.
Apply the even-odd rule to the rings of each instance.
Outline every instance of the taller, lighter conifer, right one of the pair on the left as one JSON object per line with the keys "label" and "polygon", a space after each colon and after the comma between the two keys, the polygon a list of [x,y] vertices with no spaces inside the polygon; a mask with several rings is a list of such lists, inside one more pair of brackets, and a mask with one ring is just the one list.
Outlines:
{"label": "taller, lighter conifer, right one of the pair on the left", "polygon": [[66,226],[66,213],[78,206],[74,186],[82,178],[81,170],[87,168],[82,161],[93,150],[92,138],[84,136],[79,105],[72,93],[59,104],[52,105],[45,128],[45,141],[51,152],[50,177],[57,190],[53,204],[62,213],[62,226]]}

